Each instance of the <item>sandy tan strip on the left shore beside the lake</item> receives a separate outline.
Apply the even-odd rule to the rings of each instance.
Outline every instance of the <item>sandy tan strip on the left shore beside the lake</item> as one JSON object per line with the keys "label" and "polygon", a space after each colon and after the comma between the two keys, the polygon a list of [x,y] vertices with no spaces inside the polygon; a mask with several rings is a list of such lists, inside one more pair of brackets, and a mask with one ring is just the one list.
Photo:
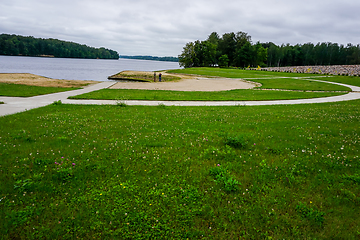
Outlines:
{"label": "sandy tan strip on the left shore beside the lake", "polygon": [[82,80],[59,80],[38,76],[30,73],[0,73],[0,82],[24,84],[40,87],[84,87],[90,84],[98,83],[97,81]]}

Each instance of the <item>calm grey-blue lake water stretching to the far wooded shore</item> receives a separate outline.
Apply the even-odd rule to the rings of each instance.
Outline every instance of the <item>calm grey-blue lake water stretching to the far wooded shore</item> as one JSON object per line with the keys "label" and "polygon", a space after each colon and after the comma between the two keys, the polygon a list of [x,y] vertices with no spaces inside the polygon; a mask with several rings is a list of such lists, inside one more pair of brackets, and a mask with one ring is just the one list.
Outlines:
{"label": "calm grey-blue lake water stretching to the far wooded shore", "polygon": [[107,77],[124,70],[158,71],[178,69],[177,62],[134,59],[74,59],[0,56],[0,73],[32,73],[66,80],[107,81]]}

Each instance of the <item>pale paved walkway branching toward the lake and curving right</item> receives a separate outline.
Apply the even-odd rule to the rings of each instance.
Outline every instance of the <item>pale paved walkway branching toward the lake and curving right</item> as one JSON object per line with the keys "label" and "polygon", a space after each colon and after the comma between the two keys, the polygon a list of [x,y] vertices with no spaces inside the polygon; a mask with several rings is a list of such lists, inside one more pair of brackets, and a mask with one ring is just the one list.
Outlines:
{"label": "pale paved walkway branching toward the lake and curving right", "polygon": [[[304,79],[305,80],[305,79]],[[157,106],[163,104],[165,106],[258,106],[258,105],[286,105],[286,104],[310,104],[310,103],[325,103],[325,102],[340,102],[360,99],[360,87],[351,86],[342,83],[313,80],[325,83],[337,84],[349,87],[353,92],[341,96],[325,97],[325,98],[312,98],[312,99],[297,99],[297,100],[272,100],[272,101],[139,101],[139,100],[124,100],[121,101],[127,105],[145,105]],[[0,116],[10,115],[18,112],[23,112],[33,108],[43,107],[55,101],[61,101],[65,104],[89,104],[89,105],[103,105],[110,104],[116,105],[119,101],[115,100],[74,100],[67,99],[70,96],[76,96],[83,93],[96,91],[103,88],[108,88],[116,82],[102,82],[84,89],[53,93],[48,95],[41,95],[28,98],[19,97],[0,97],[0,101],[5,104],[0,104]]]}

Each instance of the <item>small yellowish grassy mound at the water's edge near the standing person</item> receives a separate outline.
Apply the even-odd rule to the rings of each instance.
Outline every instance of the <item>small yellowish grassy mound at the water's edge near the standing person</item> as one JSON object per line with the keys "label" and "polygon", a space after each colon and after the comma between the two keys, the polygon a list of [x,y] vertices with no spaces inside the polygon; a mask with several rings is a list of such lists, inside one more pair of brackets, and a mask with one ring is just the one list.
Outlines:
{"label": "small yellowish grassy mound at the water's edge near the standing person", "polygon": [[[132,82],[155,82],[155,81],[159,81],[159,73],[160,72],[122,71],[108,77],[108,79],[117,80],[117,81],[132,81]],[[181,79],[180,77],[176,77],[174,75],[169,75],[169,74],[163,74],[163,73],[161,77],[161,81],[163,82],[177,81],[180,79]]]}

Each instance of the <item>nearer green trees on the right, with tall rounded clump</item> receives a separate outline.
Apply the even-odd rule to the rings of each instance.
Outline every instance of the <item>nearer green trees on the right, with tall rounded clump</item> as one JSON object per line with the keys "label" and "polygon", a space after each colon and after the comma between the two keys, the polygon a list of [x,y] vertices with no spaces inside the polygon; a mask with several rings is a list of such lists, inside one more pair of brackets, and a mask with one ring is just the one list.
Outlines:
{"label": "nearer green trees on the right, with tall rounded clump", "polygon": [[211,33],[205,41],[189,42],[179,55],[182,67],[281,67],[360,64],[360,45],[337,43],[253,44],[244,32]]}

